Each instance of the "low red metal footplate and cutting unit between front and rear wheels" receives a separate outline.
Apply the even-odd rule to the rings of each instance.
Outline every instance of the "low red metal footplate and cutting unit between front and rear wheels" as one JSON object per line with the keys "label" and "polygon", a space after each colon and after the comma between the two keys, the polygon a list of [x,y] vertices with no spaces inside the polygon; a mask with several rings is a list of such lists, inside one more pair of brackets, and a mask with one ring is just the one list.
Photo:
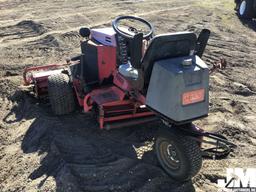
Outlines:
{"label": "low red metal footplate and cutting unit between front and rear wheels", "polygon": [[[109,97],[103,97],[104,95],[109,95]],[[142,107],[145,104],[141,102],[145,101],[143,95],[139,94],[136,98],[126,98],[126,96],[127,93],[117,86],[95,89],[84,97],[83,109],[89,112],[96,104],[101,129],[109,123],[155,115],[146,107]]]}

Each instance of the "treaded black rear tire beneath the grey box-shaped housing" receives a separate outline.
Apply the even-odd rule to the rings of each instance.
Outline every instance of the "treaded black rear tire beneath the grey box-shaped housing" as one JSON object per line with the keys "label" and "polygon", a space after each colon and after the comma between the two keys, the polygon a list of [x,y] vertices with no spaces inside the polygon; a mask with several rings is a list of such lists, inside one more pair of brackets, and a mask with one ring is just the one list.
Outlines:
{"label": "treaded black rear tire beneath the grey box-shaped housing", "polygon": [[[179,160],[178,168],[171,168],[171,164],[165,160],[169,157],[163,152],[161,146],[166,142],[175,148]],[[177,181],[183,182],[191,179],[202,167],[202,155],[198,142],[178,132],[161,131],[155,142],[155,152],[162,168]]]}

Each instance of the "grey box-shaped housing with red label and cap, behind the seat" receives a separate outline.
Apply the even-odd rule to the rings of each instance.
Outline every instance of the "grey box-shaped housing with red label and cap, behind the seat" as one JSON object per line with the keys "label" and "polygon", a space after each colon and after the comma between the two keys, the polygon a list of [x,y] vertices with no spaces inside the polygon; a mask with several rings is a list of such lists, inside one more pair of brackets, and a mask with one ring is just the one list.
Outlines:
{"label": "grey box-shaped housing with red label and cap, behind the seat", "polygon": [[156,61],[146,105],[168,119],[187,122],[209,111],[209,69],[198,56]]}

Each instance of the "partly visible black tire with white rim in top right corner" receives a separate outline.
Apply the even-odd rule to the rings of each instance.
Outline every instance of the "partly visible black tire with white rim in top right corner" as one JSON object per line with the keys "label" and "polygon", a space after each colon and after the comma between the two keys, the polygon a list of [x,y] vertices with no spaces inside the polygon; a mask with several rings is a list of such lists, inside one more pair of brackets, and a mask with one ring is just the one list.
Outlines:
{"label": "partly visible black tire with white rim in top right corner", "polygon": [[[253,7],[254,0],[242,0],[238,7],[238,16],[244,19],[252,19],[256,17],[256,11]],[[244,12],[241,12],[242,6],[245,6]]]}

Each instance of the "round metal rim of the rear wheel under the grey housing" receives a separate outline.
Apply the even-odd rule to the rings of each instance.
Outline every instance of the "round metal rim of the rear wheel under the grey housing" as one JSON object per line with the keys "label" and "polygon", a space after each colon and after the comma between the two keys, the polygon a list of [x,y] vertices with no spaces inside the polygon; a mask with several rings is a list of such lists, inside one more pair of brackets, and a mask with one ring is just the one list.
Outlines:
{"label": "round metal rim of the rear wheel under the grey housing", "polygon": [[180,168],[180,159],[177,153],[176,147],[173,143],[168,141],[163,141],[160,144],[160,155],[164,162],[164,164],[173,170],[177,170]]}

